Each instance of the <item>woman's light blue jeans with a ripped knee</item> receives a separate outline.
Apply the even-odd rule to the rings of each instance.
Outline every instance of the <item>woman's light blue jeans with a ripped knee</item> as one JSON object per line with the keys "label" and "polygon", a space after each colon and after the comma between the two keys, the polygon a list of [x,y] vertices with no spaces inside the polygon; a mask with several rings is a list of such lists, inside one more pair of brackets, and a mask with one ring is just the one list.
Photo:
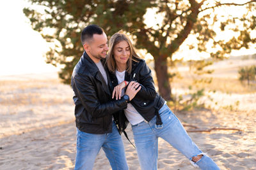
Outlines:
{"label": "woman's light blue jeans with a ripped knee", "polygon": [[[203,153],[188,136],[179,119],[166,104],[159,110],[163,127],[156,128],[156,116],[150,122],[132,125],[132,132],[141,169],[157,169],[158,138],[163,138],[187,157],[193,166],[201,169],[220,169],[214,161]],[[198,162],[192,157],[203,155]]]}

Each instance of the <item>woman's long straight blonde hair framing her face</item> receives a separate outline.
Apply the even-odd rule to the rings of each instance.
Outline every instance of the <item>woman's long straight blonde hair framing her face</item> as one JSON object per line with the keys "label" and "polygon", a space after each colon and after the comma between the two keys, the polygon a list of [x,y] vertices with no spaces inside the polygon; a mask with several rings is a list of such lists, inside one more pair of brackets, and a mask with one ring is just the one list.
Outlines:
{"label": "woman's long straight blonde hair framing her face", "polygon": [[127,37],[127,35],[122,30],[113,34],[113,36],[111,36],[111,38],[109,39],[109,52],[108,52],[106,64],[108,66],[109,71],[111,71],[112,73],[115,73],[116,61],[114,58],[114,47],[121,41],[126,41],[130,46],[130,56],[129,56],[129,59],[127,60],[127,67],[125,69],[130,74],[132,71],[132,60],[138,62],[140,57],[135,52],[134,47],[132,46],[131,40]]}

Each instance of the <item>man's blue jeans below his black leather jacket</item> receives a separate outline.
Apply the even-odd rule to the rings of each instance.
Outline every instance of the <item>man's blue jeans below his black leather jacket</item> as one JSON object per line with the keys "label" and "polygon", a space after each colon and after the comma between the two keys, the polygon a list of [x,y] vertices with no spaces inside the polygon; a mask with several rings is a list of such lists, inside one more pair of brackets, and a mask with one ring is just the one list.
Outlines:
{"label": "man's blue jeans below his black leather jacket", "polygon": [[92,169],[100,148],[104,150],[112,169],[129,169],[124,143],[114,122],[112,132],[107,134],[89,134],[77,129],[76,148],[75,169]]}

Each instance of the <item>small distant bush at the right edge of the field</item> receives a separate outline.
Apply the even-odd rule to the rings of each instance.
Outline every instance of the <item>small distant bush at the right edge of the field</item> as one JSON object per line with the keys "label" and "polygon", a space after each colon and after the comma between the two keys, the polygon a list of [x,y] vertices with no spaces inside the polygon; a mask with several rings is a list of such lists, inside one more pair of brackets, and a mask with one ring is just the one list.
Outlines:
{"label": "small distant bush at the right edge of the field", "polygon": [[238,71],[239,80],[242,82],[247,80],[247,84],[250,85],[250,81],[255,80],[256,66],[241,67]]}

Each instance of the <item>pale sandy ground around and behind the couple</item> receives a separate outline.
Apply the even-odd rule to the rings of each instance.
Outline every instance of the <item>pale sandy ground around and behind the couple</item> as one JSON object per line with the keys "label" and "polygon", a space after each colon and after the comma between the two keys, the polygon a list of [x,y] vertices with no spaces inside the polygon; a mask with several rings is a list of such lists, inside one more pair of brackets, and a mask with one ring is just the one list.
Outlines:
{"label": "pale sandy ground around and behind the couple", "polygon": [[[70,86],[61,84],[55,73],[0,77],[0,169],[74,169],[76,126],[72,94]],[[212,94],[214,100],[220,101],[215,110],[175,114],[182,124],[198,129],[240,129],[189,132],[189,136],[221,169],[256,169],[256,94],[232,95],[235,97],[221,92]],[[239,105],[232,111],[225,108],[237,100]],[[133,142],[130,126],[127,134]],[[140,169],[136,150],[123,135],[122,138],[129,168]],[[196,169],[163,139],[159,139],[158,168]],[[111,169],[102,150],[93,169]]]}

